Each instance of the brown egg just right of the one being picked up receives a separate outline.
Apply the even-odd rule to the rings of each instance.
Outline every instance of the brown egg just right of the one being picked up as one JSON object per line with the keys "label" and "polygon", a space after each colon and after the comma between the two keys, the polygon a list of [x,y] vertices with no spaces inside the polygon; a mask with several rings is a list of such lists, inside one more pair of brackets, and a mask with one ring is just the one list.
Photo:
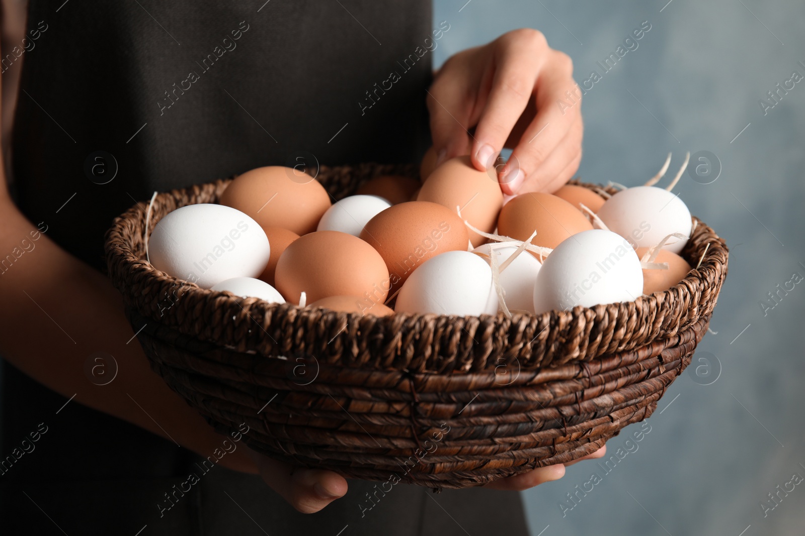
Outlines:
{"label": "brown egg just right of the one being picked up", "polygon": [[527,240],[543,248],[555,248],[577,232],[589,231],[592,224],[572,204],[551,194],[520,194],[503,206],[497,218],[497,233]]}

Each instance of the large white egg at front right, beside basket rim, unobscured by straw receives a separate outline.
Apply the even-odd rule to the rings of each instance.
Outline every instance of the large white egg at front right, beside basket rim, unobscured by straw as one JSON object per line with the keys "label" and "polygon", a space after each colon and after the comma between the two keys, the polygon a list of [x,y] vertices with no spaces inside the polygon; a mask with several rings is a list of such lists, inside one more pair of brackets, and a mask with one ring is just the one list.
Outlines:
{"label": "large white egg at front right, beside basket rim, unobscured by straw", "polygon": [[638,254],[621,235],[603,229],[564,239],[547,256],[534,286],[534,310],[633,301],[643,292]]}

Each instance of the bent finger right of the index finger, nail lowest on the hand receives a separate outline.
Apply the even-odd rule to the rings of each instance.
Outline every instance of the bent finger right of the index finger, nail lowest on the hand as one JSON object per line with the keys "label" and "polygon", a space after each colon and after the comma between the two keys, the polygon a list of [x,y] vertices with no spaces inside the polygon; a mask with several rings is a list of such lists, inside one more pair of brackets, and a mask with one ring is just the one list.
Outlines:
{"label": "bent finger right of the index finger, nail lowest on the hand", "polygon": [[565,92],[575,88],[572,60],[563,52],[548,53],[551,59],[543,64],[536,82],[537,115],[522,134],[499,178],[505,194],[518,191],[524,179],[545,164],[580,116],[580,100],[570,108],[559,106],[559,100],[567,100]]}

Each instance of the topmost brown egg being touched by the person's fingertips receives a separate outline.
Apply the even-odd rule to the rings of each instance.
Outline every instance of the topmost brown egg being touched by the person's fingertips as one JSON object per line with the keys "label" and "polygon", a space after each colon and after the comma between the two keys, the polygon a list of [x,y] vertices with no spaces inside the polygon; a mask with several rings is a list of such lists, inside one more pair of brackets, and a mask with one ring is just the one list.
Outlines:
{"label": "topmost brown egg being touched by the person's fingertips", "polygon": [[[497,214],[503,206],[503,192],[497,178],[476,170],[469,156],[451,158],[433,170],[416,199],[439,203],[453,212],[460,207],[461,218],[485,232],[495,230]],[[469,239],[473,247],[486,242],[475,231],[469,231]]]}

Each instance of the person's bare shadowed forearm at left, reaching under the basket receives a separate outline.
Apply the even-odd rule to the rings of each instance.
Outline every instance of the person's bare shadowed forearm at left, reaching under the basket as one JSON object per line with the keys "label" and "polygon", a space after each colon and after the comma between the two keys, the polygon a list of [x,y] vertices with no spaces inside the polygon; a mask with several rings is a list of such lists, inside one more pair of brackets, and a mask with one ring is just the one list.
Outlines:
{"label": "person's bare shadowed forearm at left, reaching under the basket", "polygon": [[[31,231],[38,229],[0,192],[0,354],[53,391],[76,395],[73,403],[134,423],[202,456],[221,448],[225,438],[151,371],[109,279],[46,234],[34,240]],[[103,386],[85,374],[85,362],[98,351],[111,354],[118,364],[114,381]],[[246,448],[225,456],[221,464],[257,472]]]}

